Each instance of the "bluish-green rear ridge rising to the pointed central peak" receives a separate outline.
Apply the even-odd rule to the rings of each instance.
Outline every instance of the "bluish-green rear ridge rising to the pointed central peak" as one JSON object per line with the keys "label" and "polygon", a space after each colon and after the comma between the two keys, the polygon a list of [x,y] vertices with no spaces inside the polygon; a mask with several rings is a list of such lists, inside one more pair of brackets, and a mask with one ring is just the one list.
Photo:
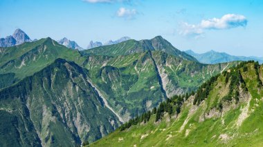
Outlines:
{"label": "bluish-green rear ridge rising to the pointed central peak", "polygon": [[85,50],[84,54],[118,56],[130,55],[136,52],[146,52],[149,50],[161,50],[176,57],[182,57],[183,59],[197,61],[197,59],[195,59],[194,57],[174,48],[174,46],[172,46],[170,42],[163,39],[163,37],[161,36],[154,37],[150,40],[136,41],[131,39],[111,46],[100,46],[91,50]]}

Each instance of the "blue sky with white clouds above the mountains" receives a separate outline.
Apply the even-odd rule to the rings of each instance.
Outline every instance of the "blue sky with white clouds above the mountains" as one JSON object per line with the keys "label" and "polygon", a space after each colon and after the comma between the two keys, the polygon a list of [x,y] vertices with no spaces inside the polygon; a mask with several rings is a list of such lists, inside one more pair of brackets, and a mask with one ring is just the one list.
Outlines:
{"label": "blue sky with white clouds above the mountains", "polygon": [[108,41],[163,36],[179,50],[263,57],[262,0],[1,0],[0,37]]}

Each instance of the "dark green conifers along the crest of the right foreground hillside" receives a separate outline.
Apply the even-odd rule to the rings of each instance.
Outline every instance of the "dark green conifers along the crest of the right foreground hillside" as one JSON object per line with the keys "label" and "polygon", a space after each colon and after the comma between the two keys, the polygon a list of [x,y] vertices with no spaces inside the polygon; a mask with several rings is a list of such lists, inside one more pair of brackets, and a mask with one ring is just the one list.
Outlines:
{"label": "dark green conifers along the crest of the right foreground hillside", "polygon": [[[257,83],[259,86],[262,86],[262,81],[260,80],[259,76],[260,64],[258,63],[258,61],[243,61],[242,63],[239,63],[239,65],[237,65],[235,68],[230,68],[230,72],[222,72],[222,75],[225,77],[225,84],[228,84],[228,82],[230,82],[228,95],[222,99],[223,101],[231,101],[234,98],[235,101],[238,102],[239,86],[248,91],[248,89],[246,88],[246,82],[244,81],[241,74],[241,69],[243,70],[243,72],[248,71],[247,63],[254,63],[254,68],[257,72]],[[220,74],[211,77],[208,81],[203,83],[196,92],[192,91],[190,94],[186,93],[185,95],[175,95],[174,97],[161,102],[158,108],[155,107],[152,109],[152,111],[147,111],[142,115],[135,117],[134,119],[130,119],[118,129],[120,131],[123,131],[127,128],[130,128],[132,125],[146,123],[154,115],[155,122],[157,122],[163,118],[165,112],[167,112],[167,114],[170,116],[174,114],[178,115],[181,112],[181,106],[183,105],[183,102],[186,101],[191,95],[195,95],[193,104],[199,105],[201,101],[208,97],[210,90],[212,90],[212,85],[215,83],[215,81],[217,81],[219,75]],[[223,108],[222,101],[219,102],[217,107],[219,109]]]}

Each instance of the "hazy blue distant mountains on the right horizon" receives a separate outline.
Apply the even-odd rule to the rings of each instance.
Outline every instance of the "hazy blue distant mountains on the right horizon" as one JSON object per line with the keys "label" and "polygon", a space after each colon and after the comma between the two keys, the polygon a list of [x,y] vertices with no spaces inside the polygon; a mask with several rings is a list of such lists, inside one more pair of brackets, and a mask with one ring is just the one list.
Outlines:
{"label": "hazy blue distant mountains on the right horizon", "polygon": [[192,50],[186,50],[185,53],[195,57],[201,63],[225,63],[229,61],[248,61],[254,60],[263,63],[263,57],[244,57],[244,56],[233,56],[228,55],[225,52],[216,52],[215,50],[210,50],[202,54],[198,54]]}

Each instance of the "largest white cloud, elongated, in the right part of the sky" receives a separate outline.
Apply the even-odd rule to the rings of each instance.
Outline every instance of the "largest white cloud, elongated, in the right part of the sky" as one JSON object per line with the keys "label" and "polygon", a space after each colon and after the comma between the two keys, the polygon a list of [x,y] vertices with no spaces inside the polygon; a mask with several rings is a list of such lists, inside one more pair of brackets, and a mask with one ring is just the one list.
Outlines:
{"label": "largest white cloud, elongated, in the right part of the sky", "polygon": [[224,30],[237,28],[239,26],[246,27],[248,20],[243,15],[225,14],[221,18],[212,18],[202,20],[199,24],[181,23],[180,35],[199,36],[203,35],[205,30]]}

